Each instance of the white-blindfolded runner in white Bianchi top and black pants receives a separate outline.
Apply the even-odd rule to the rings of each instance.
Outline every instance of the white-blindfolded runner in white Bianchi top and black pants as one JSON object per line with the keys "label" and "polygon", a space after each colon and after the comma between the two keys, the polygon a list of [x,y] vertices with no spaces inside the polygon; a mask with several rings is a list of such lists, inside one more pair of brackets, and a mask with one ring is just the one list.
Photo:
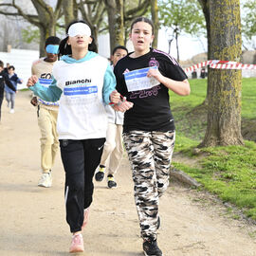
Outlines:
{"label": "white-blindfolded runner in white Bianchi top and black pants", "polygon": [[118,103],[119,93],[108,61],[94,52],[90,27],[76,21],[66,28],[66,34],[51,85],[46,88],[32,76],[27,87],[43,100],[60,100],[57,131],[65,172],[66,221],[73,233],[69,252],[80,252],[82,228],[93,200],[93,176],[106,137],[104,104]]}

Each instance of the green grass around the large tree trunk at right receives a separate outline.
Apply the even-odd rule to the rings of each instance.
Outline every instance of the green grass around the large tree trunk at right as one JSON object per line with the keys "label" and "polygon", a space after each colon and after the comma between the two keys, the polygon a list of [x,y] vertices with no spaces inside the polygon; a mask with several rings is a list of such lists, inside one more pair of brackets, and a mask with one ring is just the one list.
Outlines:
{"label": "green grass around the large tree trunk at right", "polygon": [[[256,143],[245,140],[244,146],[193,149],[202,141],[207,127],[207,110],[202,103],[206,97],[207,81],[192,80],[192,93],[180,97],[171,93],[171,106],[176,126],[175,152],[196,158],[196,167],[174,162],[174,167],[190,174],[204,189],[218,195],[224,202],[242,209],[247,217],[256,220]],[[256,134],[256,79],[243,79],[242,122]]]}

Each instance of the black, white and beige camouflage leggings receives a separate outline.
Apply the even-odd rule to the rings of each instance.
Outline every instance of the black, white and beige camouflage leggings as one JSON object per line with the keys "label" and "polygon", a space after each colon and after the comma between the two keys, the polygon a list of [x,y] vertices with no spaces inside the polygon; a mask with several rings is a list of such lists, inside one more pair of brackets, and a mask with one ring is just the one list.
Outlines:
{"label": "black, white and beige camouflage leggings", "polygon": [[132,131],[123,135],[132,165],[137,214],[144,239],[156,239],[159,197],[169,185],[174,140],[174,131]]}

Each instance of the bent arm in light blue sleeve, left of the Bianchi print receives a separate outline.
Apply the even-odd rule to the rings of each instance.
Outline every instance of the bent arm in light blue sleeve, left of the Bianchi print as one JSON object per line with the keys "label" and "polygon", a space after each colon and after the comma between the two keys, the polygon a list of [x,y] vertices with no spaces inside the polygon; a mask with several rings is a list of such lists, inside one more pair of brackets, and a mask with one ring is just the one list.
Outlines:
{"label": "bent arm in light blue sleeve, left of the Bianchi print", "polygon": [[49,87],[42,86],[36,76],[31,76],[27,81],[27,87],[35,95],[45,101],[59,101],[63,91],[57,86],[57,81],[53,78]]}

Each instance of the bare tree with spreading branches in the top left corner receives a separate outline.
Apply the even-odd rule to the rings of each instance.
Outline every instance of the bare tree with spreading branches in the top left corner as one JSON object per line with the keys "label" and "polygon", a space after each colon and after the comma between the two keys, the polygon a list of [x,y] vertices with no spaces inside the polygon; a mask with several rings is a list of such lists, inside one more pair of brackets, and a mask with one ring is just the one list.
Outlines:
{"label": "bare tree with spreading branches in the top left corner", "polygon": [[22,16],[28,23],[38,27],[40,30],[40,56],[43,56],[45,55],[46,38],[56,34],[56,23],[62,14],[62,2],[63,0],[58,0],[55,9],[52,9],[43,0],[31,0],[37,12],[35,15],[27,13],[16,5],[15,0],[12,0],[11,3],[0,4],[0,13],[7,16]]}

